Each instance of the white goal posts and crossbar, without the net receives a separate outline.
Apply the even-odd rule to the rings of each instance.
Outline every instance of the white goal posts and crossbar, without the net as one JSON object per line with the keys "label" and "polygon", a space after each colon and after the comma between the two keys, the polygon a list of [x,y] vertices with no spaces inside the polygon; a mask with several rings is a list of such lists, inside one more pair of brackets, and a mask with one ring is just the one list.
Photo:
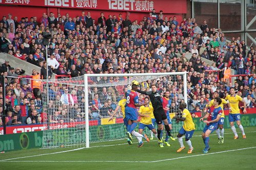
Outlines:
{"label": "white goal posts and crossbar, without the net", "polygon": [[89,141],[89,98],[88,98],[88,78],[89,77],[132,77],[132,76],[183,76],[183,91],[184,101],[187,104],[187,72],[156,72],[156,73],[144,73],[144,74],[85,74],[84,75],[84,88],[85,88],[85,131],[86,131],[86,148],[90,147]]}

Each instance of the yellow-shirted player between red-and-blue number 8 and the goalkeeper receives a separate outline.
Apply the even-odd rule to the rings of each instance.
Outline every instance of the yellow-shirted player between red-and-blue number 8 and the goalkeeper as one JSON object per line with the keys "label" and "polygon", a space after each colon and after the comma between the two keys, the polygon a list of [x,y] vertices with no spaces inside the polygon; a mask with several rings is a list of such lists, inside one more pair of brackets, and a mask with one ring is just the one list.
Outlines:
{"label": "yellow-shirted player between red-and-blue number 8 and the goalkeeper", "polygon": [[145,127],[147,127],[149,130],[151,130],[155,134],[155,137],[157,137],[157,133],[155,131],[155,128],[154,128],[154,125],[152,124],[152,119],[151,119],[151,115],[153,114],[153,107],[149,105],[148,97],[144,99],[144,103],[145,105],[141,106],[139,110],[139,116],[141,116],[139,133],[142,134]]}

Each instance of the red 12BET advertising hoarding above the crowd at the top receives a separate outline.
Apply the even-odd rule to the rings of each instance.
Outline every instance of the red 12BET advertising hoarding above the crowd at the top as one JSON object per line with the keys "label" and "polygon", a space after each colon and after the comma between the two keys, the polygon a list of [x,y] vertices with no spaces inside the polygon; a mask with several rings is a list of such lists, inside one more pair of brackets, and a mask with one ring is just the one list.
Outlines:
{"label": "red 12BET advertising hoarding above the crowd at the top", "polygon": [[186,0],[0,0],[1,5],[57,7],[134,12],[187,13]]}

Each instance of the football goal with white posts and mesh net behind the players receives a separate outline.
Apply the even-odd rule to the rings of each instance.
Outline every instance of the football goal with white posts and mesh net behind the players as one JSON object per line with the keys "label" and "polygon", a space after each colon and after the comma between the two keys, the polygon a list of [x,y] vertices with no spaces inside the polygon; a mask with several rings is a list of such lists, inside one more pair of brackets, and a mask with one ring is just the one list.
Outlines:
{"label": "football goal with white posts and mesh net behind the players", "polygon": [[[123,123],[122,110],[117,110],[114,118],[110,121],[109,119],[119,101],[125,99],[127,85],[130,85],[133,80],[140,83],[141,90],[150,90],[152,84],[157,86],[161,95],[169,90],[171,106],[168,107],[171,118],[180,112],[181,101],[187,101],[185,72],[94,74],[76,78],[44,80],[42,83],[44,104],[42,113],[46,113],[47,116],[44,121],[42,148],[89,147],[89,143],[92,142],[124,139],[127,130]],[[139,102],[143,103],[145,95],[140,93],[138,95]],[[154,126],[157,128],[156,125]],[[182,123],[176,124],[172,119],[174,137],[181,126]],[[145,129],[143,133],[150,137],[148,129]],[[163,137],[165,137],[165,132]]]}

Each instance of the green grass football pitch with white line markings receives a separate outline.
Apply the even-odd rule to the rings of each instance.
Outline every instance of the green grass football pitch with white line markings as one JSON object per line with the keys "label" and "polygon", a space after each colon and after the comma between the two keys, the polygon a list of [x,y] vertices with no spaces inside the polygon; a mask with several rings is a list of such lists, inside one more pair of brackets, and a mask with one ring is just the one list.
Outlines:
{"label": "green grass football pitch with white line markings", "polygon": [[210,136],[210,151],[203,154],[201,132],[195,132],[188,147],[181,153],[178,140],[171,147],[160,148],[156,138],[137,148],[137,141],[126,140],[91,143],[90,148],[30,149],[0,154],[1,169],[256,169],[256,127],[245,128],[246,139],[233,139],[225,129],[224,143],[218,143],[215,132]]}

